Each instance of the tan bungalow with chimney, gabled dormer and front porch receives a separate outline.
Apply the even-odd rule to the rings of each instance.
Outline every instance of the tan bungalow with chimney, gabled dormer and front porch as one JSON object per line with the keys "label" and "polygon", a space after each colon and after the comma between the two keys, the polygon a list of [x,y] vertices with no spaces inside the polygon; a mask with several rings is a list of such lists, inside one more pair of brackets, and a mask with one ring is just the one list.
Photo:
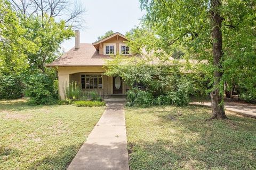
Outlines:
{"label": "tan bungalow with chimney, gabled dormer and front porch", "polygon": [[125,95],[128,87],[121,77],[103,75],[105,59],[110,59],[110,55],[130,55],[125,36],[115,33],[87,44],[80,43],[79,30],[75,32],[75,46],[46,65],[58,70],[60,98],[65,99],[66,87],[71,82],[77,82],[84,91],[96,91],[101,96]]}

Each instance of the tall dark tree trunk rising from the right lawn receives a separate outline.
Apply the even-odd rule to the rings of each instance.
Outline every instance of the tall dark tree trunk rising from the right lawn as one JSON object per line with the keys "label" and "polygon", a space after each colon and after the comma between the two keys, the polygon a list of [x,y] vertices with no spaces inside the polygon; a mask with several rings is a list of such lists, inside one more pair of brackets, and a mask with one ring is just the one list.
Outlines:
{"label": "tall dark tree trunk rising from the right lawn", "polygon": [[211,119],[227,119],[223,106],[223,94],[220,94],[220,79],[222,77],[221,60],[222,52],[222,35],[221,35],[221,22],[219,7],[221,6],[220,0],[211,0],[211,19],[212,19],[212,51],[213,51],[213,64],[214,70],[214,83],[213,91],[211,92],[212,103],[212,118]]}

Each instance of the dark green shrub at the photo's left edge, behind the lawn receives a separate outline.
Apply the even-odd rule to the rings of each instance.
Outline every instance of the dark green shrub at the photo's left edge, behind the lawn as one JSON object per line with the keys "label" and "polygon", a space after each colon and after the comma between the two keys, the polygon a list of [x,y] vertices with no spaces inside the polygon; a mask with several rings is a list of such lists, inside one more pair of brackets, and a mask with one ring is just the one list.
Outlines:
{"label": "dark green shrub at the photo's left edge, behind the lawn", "polygon": [[24,85],[20,76],[0,75],[0,99],[21,98]]}

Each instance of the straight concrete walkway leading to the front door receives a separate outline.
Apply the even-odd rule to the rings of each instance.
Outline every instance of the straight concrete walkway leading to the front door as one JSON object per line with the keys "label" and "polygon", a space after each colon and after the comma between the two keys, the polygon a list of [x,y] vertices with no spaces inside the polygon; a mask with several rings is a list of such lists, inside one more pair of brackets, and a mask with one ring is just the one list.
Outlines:
{"label": "straight concrete walkway leading to the front door", "polygon": [[129,170],[124,104],[107,104],[68,169]]}

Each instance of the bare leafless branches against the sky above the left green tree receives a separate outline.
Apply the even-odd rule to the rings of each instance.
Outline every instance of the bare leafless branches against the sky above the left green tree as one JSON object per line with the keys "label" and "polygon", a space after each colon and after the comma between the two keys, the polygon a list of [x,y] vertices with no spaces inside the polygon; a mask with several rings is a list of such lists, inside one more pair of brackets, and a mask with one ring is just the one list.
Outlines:
{"label": "bare leafless branches against the sky above the left green tree", "polygon": [[31,17],[32,15],[44,18],[58,18],[65,21],[67,26],[73,28],[84,28],[84,13],[85,8],[82,3],[78,1],[69,2],[67,0],[9,0],[14,9],[25,15]]}

